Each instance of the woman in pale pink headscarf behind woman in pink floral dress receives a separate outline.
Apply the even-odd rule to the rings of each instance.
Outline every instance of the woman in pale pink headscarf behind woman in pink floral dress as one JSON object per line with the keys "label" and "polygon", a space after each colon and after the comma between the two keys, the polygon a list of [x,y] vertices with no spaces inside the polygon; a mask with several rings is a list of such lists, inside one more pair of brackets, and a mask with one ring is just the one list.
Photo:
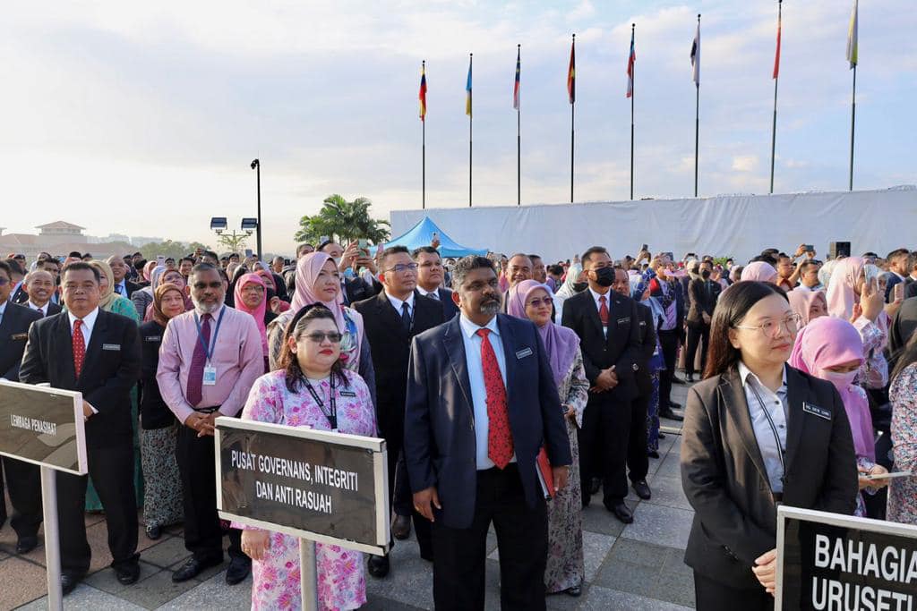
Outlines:
{"label": "woman in pale pink headscarf behind woman in pink floral dress", "polygon": [[301,256],[296,262],[296,292],[291,308],[268,324],[268,359],[271,371],[280,367],[283,337],[296,312],[307,305],[321,303],[335,316],[341,330],[341,364],[356,371],[370,387],[372,403],[376,403],[376,371],[372,366],[370,343],[363,332],[363,317],[359,311],[344,305],[340,272],[327,253],[314,252]]}

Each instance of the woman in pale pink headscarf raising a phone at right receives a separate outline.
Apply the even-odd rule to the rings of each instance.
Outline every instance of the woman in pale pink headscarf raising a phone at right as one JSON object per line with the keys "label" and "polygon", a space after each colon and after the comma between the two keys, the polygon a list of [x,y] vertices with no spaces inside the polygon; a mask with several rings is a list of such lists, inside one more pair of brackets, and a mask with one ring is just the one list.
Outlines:
{"label": "woman in pale pink headscarf raising a phone at right", "polygon": [[883,311],[885,300],[875,279],[867,281],[866,262],[848,256],[834,264],[828,283],[828,314],[853,323],[863,341],[863,364],[856,376],[866,388],[882,388],[889,383],[889,364],[882,350],[888,342],[888,322]]}

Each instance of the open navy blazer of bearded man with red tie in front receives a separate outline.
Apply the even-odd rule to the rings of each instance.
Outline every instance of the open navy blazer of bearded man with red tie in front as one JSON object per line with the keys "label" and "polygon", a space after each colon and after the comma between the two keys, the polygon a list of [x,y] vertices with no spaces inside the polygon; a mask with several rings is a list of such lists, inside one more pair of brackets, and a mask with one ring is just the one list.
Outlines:
{"label": "open navy blazer of bearded man with red tie in front", "polygon": [[[474,406],[459,320],[425,331],[411,344],[404,460],[413,492],[436,486],[443,506],[434,510],[436,520],[452,529],[467,529],[474,515],[478,472]],[[497,314],[497,326],[506,355],[506,401],[519,476],[528,506],[535,507],[542,494],[535,462],[542,444],[551,464],[572,462],[567,425],[535,324]]]}

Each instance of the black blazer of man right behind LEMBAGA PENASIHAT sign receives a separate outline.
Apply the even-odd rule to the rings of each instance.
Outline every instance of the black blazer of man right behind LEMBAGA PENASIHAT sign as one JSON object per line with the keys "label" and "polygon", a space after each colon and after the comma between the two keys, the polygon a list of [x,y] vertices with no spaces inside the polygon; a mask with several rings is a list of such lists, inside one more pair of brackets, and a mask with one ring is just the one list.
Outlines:
{"label": "black blazer of man right behind LEMBAGA PENASIHAT sign", "polygon": [[[104,350],[103,344],[109,349]],[[83,399],[99,411],[86,421],[86,447],[131,442],[130,389],[139,377],[140,337],[137,323],[127,316],[99,310],[79,378],[73,369],[66,313],[43,318],[28,330],[19,379],[26,384],[50,382],[51,387],[83,393]]]}

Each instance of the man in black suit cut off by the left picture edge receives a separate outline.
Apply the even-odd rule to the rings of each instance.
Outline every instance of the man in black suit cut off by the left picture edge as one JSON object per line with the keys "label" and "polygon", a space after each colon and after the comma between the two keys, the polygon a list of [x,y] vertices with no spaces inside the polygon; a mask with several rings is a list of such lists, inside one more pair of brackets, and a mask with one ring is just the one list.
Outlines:
{"label": "man in black suit cut off by the left picture edge", "polygon": [[[36,311],[10,302],[12,289],[9,264],[0,261],[0,378],[18,382],[19,362],[26,348],[28,327],[41,316]],[[39,544],[38,532],[42,518],[39,467],[6,456],[0,458],[0,527],[6,522],[4,471],[9,485],[9,499],[13,504],[10,526],[16,530],[16,552],[28,553]]]}

